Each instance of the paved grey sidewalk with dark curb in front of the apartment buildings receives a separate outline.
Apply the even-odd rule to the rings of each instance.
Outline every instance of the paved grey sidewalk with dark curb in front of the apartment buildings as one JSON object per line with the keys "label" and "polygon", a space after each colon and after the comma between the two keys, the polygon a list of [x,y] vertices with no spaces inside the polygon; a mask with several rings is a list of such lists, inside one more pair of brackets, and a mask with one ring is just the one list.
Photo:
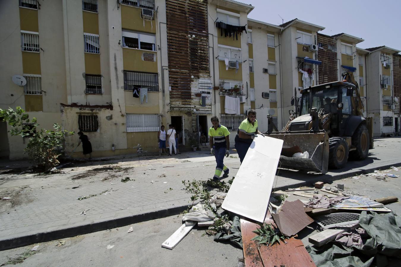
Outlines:
{"label": "paved grey sidewalk with dark curb in front of the apartment buildings", "polygon": [[[279,169],[273,187],[294,188],[399,166],[400,141],[377,139],[368,159],[326,175]],[[239,168],[237,155],[231,156],[225,159],[229,178]],[[197,151],[176,157],[121,156],[79,162],[50,175],[2,170],[0,199],[12,199],[0,200],[0,250],[178,214],[191,204],[182,180],[210,179],[214,169],[214,156]],[[123,183],[126,177],[131,181]],[[81,214],[84,210],[86,215]]]}

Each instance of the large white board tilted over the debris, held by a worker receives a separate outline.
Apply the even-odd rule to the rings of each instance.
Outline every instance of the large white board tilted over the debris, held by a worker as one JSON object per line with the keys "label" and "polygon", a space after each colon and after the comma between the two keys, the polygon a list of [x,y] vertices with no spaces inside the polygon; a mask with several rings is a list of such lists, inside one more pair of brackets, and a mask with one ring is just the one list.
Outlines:
{"label": "large white board tilted over the debris, held by a worker", "polygon": [[222,208],[263,222],[283,140],[256,137],[224,199]]}

